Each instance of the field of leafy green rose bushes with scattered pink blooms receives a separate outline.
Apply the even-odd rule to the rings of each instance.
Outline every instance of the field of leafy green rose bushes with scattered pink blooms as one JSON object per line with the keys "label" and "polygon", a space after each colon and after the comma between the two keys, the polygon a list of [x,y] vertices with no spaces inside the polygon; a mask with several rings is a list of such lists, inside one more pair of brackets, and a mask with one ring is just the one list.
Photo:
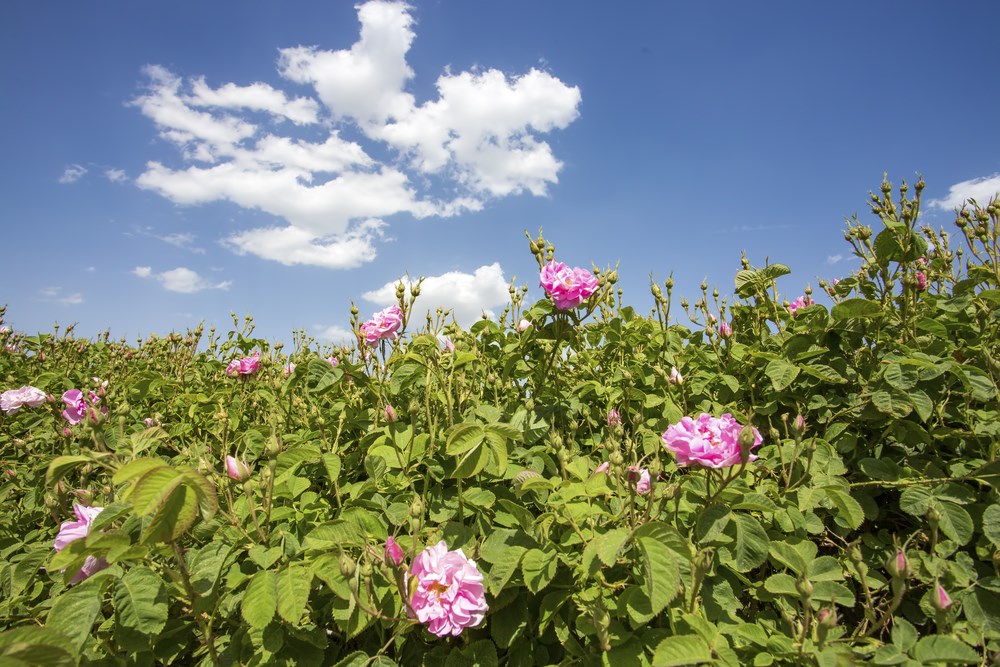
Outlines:
{"label": "field of leafy green rose bushes with scattered pink blooms", "polygon": [[0,664],[997,664],[1000,199],[923,187],[817,293],[637,313],[539,232],[468,330],[4,326]]}

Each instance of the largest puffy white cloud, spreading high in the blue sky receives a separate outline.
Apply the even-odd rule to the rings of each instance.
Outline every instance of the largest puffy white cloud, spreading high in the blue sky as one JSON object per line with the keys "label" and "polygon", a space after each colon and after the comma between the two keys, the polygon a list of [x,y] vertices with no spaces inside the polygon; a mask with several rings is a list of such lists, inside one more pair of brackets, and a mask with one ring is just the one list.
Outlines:
{"label": "largest puffy white cloud, spreading high in the blue sky", "polygon": [[[372,0],[358,18],[349,49],[279,51],[279,75],[314,97],[259,82],[212,87],[148,66],[132,103],[185,164],[150,161],[136,184],[180,205],[229,201],[284,221],[230,236],[238,253],[350,268],[374,259],[384,218],[479,211],[558,182],[562,163],[539,135],[577,117],[579,88],[538,69],[445,71],[437,99],[418,102],[407,90],[416,76],[406,59],[411,7]],[[297,136],[277,133],[284,121]],[[343,138],[349,128],[373,152]]]}

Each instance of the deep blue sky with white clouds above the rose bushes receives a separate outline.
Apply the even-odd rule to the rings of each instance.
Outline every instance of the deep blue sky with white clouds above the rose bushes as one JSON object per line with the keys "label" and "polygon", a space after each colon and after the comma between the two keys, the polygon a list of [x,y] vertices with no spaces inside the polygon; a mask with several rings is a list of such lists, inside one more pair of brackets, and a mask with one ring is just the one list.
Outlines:
{"label": "deep blue sky with white clouds above the rose bushes", "polygon": [[[340,339],[540,297],[523,230],[694,300],[857,264],[883,172],[1000,191],[995,2],[101,2],[0,8],[6,324]],[[390,294],[387,294],[390,293]]]}

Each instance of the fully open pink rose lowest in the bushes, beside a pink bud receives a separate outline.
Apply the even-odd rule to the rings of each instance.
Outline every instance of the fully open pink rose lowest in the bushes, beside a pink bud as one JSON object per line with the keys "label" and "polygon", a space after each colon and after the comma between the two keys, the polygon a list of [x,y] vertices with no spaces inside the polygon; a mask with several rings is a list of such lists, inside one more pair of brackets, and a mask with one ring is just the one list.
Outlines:
{"label": "fully open pink rose lowest in the bushes, beside a pink bud", "polygon": [[448,551],[444,540],[427,547],[413,559],[409,575],[417,579],[410,607],[431,634],[459,635],[482,623],[489,610],[483,575],[461,549]]}

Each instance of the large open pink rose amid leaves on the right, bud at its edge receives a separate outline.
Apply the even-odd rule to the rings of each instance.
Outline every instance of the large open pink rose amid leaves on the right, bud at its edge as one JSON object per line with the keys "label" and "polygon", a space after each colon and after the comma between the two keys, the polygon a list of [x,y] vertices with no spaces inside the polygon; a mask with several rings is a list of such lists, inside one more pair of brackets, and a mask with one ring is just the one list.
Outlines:
{"label": "large open pink rose amid leaves on the right, bud at its edge", "polygon": [[[729,413],[713,417],[703,412],[698,419],[683,417],[680,422],[667,427],[663,443],[677,456],[677,465],[695,463],[706,468],[728,468],[742,461],[741,430],[743,425]],[[752,432],[754,441],[750,449],[764,441],[756,428]],[[757,456],[748,452],[747,460],[755,461]]]}

